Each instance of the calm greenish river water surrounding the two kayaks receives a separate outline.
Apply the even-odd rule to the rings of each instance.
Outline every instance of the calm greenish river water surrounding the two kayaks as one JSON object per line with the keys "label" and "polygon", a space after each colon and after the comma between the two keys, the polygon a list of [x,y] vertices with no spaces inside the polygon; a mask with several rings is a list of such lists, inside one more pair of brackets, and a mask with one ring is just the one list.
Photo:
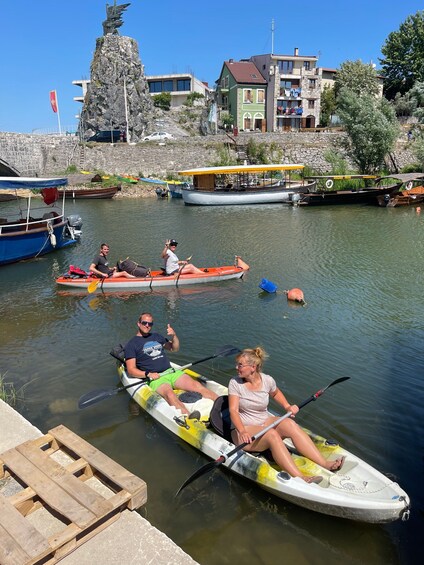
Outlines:
{"label": "calm greenish river water surrounding the two kayaks", "polygon": [[[84,221],[81,242],[1,269],[0,372],[25,386],[18,410],[43,432],[64,424],[142,477],[141,509],[202,565],[418,562],[423,532],[424,215],[414,208],[282,205],[186,207],[181,201],[122,199],[69,203]],[[69,264],[88,268],[102,241],[112,261],[127,256],[159,267],[166,238],[198,266],[232,264],[241,280],[122,294],[67,292],[54,279]],[[258,288],[262,278],[276,294]],[[307,305],[288,304],[299,287]],[[401,484],[409,522],[368,525],[303,510],[216,471],[175,500],[207,460],[139,413],[129,396],[78,411],[78,398],[117,382],[110,349],[128,340],[142,311],[155,329],[169,322],[180,363],[220,346],[261,344],[290,401],[340,376],[349,381],[310,404],[298,421],[336,438]],[[198,366],[224,384],[234,359]]]}

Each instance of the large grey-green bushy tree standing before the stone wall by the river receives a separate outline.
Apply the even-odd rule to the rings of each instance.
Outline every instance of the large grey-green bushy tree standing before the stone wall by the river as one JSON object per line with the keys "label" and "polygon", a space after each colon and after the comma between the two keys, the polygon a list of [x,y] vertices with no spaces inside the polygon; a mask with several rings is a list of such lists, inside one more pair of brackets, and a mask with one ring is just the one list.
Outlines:
{"label": "large grey-green bushy tree standing before the stone wall by the river", "polygon": [[343,88],[337,111],[348,136],[348,152],[361,174],[373,174],[393,150],[399,124],[393,106],[385,98],[358,96]]}

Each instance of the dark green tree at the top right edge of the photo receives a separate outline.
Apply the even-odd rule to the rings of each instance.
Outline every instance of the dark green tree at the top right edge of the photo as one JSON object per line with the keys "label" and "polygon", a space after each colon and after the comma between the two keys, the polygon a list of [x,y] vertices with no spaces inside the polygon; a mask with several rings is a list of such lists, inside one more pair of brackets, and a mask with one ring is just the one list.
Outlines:
{"label": "dark green tree at the top right edge of the photo", "polygon": [[384,95],[392,100],[405,94],[416,81],[424,80],[424,11],[408,16],[398,31],[389,33],[380,59]]}

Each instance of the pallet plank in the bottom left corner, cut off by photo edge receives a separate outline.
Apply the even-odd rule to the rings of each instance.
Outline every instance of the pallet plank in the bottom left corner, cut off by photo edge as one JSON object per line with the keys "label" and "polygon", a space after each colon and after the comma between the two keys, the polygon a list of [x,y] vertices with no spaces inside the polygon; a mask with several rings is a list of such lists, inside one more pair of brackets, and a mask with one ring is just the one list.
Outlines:
{"label": "pallet plank in the bottom left corner, cut off by photo edge", "polygon": [[[26,563],[49,550],[44,536],[0,494],[0,563]],[[25,555],[23,555],[25,554]],[[25,557],[25,560],[22,560]]]}

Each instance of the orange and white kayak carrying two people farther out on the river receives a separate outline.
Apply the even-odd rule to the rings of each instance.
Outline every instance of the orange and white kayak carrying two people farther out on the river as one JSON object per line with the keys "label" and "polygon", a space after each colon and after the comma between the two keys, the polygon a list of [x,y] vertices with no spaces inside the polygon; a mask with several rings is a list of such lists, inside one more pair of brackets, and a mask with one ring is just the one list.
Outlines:
{"label": "orange and white kayak carrying two people farther out on the river", "polygon": [[191,284],[221,282],[230,279],[240,279],[246,271],[247,265],[240,257],[236,257],[235,265],[224,267],[208,267],[201,274],[184,274],[184,270],[175,275],[164,275],[163,271],[151,271],[149,276],[129,279],[126,277],[113,277],[98,279],[95,277],[73,277],[63,275],[56,279],[56,283],[72,288],[88,288],[90,284],[98,281],[98,290],[145,289],[158,287],[179,287]]}

